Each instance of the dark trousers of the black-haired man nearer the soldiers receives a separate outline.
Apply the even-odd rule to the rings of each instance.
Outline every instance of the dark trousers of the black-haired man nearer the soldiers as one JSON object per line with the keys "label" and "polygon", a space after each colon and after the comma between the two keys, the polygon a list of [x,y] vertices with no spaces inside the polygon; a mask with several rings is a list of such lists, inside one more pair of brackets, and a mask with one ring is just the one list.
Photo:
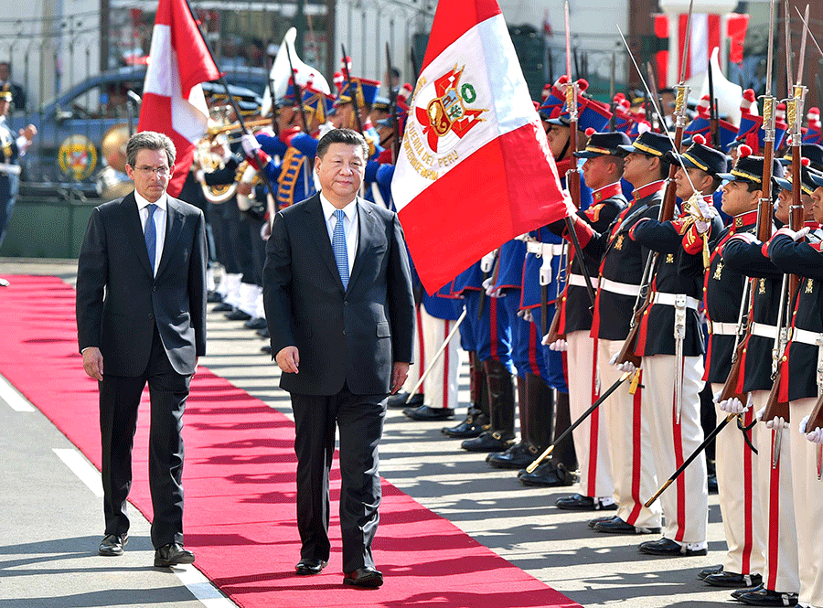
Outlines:
{"label": "dark trousers of the black-haired man nearer the soldiers", "polygon": [[343,571],[374,568],[371,541],[380,504],[378,443],[386,416],[385,395],[292,394],[297,454],[297,528],[303,559],[328,560],[328,474],[340,429],[340,529]]}

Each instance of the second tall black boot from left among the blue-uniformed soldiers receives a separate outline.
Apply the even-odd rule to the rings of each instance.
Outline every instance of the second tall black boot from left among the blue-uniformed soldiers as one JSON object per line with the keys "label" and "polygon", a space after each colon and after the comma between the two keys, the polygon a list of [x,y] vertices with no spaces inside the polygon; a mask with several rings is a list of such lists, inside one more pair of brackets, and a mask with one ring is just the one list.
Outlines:
{"label": "second tall black boot from left among the blue-uniformed soldiers", "polygon": [[487,359],[483,368],[488,384],[491,428],[461,443],[460,447],[469,452],[503,452],[514,443],[514,384],[511,372],[497,359]]}

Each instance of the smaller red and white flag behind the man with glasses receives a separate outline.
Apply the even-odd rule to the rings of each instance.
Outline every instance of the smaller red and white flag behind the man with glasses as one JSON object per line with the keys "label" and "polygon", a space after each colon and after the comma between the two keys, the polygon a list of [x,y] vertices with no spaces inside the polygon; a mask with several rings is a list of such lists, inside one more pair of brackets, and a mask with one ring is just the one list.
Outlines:
{"label": "smaller red and white flag behind the man with glasses", "polygon": [[137,130],[166,133],[175,143],[172,197],[180,194],[195,144],[206,133],[208,107],[200,83],[219,76],[186,0],[160,0]]}

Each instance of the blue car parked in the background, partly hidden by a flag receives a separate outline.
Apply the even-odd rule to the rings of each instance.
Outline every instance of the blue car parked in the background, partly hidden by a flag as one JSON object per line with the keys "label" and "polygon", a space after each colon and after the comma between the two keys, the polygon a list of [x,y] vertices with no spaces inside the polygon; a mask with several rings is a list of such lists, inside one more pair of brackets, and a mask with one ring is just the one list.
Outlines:
{"label": "blue car parked in the background, partly hidden by a flag", "polygon": [[[21,195],[70,190],[99,197],[98,177],[107,165],[103,143],[134,133],[144,78],[142,65],[111,69],[83,80],[37,112],[10,116],[13,129],[27,123],[37,127],[37,137],[21,159]],[[243,100],[259,101],[267,82],[261,68],[230,69],[225,78],[232,94]]]}

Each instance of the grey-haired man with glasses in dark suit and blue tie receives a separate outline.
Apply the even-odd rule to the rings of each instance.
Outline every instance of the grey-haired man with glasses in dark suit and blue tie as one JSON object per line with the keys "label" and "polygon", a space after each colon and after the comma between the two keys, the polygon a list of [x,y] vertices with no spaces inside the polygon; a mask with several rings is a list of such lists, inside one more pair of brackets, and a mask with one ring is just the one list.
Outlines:
{"label": "grey-haired man with glasses in dark suit and blue tie", "polygon": [[[183,549],[183,410],[206,352],[206,224],[166,194],[175,146],[162,133],[126,144],[134,193],[91,212],[77,272],[83,368],[100,381],[103,513],[101,555],[122,555],[132,444],[146,382],[151,394],[149,485],[155,566],[192,563]],[[105,369],[103,368],[105,362]]]}

